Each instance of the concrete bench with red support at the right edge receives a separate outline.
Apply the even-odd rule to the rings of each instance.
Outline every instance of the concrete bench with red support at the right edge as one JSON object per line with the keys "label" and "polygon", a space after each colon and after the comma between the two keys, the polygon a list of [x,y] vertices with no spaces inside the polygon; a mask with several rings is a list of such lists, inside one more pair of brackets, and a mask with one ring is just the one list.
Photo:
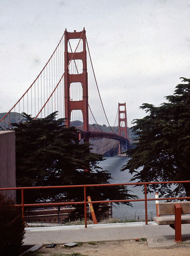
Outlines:
{"label": "concrete bench with red support at the right edge", "polygon": [[[154,221],[159,225],[170,225],[175,230],[175,242],[181,242],[181,224],[190,223],[190,202],[166,202],[158,204],[159,217]],[[173,216],[168,216],[173,215]]]}

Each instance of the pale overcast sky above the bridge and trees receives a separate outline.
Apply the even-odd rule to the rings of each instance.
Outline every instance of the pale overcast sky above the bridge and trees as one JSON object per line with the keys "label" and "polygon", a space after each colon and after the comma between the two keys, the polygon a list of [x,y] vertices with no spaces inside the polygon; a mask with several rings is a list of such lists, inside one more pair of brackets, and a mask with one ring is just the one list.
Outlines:
{"label": "pale overcast sky above the bridge and trees", "polygon": [[118,102],[128,125],[190,78],[190,0],[1,0],[0,112],[35,80],[65,28],[85,27],[111,125]]}

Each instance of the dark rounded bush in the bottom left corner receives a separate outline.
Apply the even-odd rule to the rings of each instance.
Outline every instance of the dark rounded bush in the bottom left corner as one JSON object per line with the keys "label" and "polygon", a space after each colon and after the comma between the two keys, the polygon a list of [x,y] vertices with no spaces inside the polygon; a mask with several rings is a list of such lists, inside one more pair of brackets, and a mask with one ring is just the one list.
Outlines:
{"label": "dark rounded bush in the bottom left corner", "polygon": [[22,210],[11,198],[0,194],[0,255],[17,255],[24,239]]}

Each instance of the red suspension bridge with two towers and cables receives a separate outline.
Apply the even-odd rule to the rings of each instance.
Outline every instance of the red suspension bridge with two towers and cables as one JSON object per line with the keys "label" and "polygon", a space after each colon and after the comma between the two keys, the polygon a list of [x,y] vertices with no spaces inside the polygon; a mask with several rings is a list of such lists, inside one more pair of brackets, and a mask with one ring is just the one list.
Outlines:
{"label": "red suspension bridge with two towers and cables", "polygon": [[[119,141],[119,154],[127,150],[126,104],[118,104],[116,133],[113,130],[115,124],[110,126],[104,110],[85,29],[81,32],[67,32],[65,29],[37,78],[0,119],[0,127],[5,130],[8,124],[10,128],[11,123],[16,122],[17,113],[25,112],[36,119],[55,111],[58,111],[57,118],[66,118],[65,125],[73,125],[80,130],[80,139],[88,142],[90,138],[110,138]],[[18,122],[21,121],[19,115]],[[109,132],[104,132],[100,124],[107,124]]]}

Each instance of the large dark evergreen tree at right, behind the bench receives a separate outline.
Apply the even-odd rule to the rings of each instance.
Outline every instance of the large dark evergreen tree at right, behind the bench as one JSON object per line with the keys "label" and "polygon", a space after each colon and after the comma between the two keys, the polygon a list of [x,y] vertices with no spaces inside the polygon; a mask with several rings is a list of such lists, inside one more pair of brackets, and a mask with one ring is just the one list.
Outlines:
{"label": "large dark evergreen tree at right, behind the bench", "polygon": [[[122,170],[134,174],[139,182],[190,180],[190,79],[183,78],[167,103],[155,107],[143,104],[149,113],[135,119],[136,147]],[[149,185],[150,192],[168,196],[190,196],[190,184]]]}

